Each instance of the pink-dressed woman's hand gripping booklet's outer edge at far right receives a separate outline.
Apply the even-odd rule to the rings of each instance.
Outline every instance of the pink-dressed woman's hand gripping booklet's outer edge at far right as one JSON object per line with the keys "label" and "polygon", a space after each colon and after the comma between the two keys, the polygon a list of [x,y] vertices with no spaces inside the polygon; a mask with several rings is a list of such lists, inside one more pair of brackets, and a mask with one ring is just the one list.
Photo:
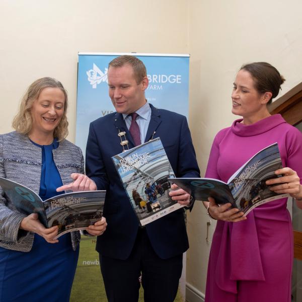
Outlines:
{"label": "pink-dressed woman's hand gripping booklet's outer edge at far right", "polygon": [[[302,197],[302,190],[300,185],[300,178],[292,169],[285,167],[275,171],[276,175],[283,174],[281,177],[267,180],[265,183],[270,185],[269,189],[276,193],[287,193],[291,197]],[[275,185],[278,184],[278,185]]]}

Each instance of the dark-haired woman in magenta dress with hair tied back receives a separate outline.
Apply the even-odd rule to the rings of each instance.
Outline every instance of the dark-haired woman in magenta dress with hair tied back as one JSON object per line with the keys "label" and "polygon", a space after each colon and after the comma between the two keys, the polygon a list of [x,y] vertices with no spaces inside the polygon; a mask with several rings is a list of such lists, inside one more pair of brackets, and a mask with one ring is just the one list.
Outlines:
{"label": "dark-haired woman in magenta dress with hair tied back", "polygon": [[[242,116],[220,130],[213,141],[205,177],[228,179],[253,155],[278,142],[283,167],[267,185],[288,193],[302,208],[302,133],[281,115],[271,115],[271,103],[284,82],[272,65],[246,64],[237,73],[232,112]],[[287,198],[263,204],[247,217],[230,203],[205,202],[217,219],[208,263],[206,302],[290,302],[293,236]]]}

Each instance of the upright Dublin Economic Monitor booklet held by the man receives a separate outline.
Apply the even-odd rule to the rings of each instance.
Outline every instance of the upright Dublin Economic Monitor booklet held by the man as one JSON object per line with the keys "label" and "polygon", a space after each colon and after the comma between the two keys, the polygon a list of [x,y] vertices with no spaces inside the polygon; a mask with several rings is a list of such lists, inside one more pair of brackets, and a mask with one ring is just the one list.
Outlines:
{"label": "upright Dublin Economic Monitor booklet held by the man", "polygon": [[157,220],[183,205],[169,196],[174,172],[160,138],[112,157],[141,225]]}

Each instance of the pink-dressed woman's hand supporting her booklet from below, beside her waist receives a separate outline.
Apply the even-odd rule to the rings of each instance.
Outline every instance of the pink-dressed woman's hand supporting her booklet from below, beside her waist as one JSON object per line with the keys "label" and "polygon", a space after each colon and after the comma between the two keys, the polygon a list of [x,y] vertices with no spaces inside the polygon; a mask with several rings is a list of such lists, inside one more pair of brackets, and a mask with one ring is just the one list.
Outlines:
{"label": "pink-dressed woman's hand supporting her booklet from below, beside her waist", "polygon": [[229,222],[238,222],[247,219],[247,217],[243,216],[244,212],[240,212],[238,208],[230,208],[232,206],[230,202],[218,206],[214,198],[208,197],[208,201],[208,211],[214,219]]}

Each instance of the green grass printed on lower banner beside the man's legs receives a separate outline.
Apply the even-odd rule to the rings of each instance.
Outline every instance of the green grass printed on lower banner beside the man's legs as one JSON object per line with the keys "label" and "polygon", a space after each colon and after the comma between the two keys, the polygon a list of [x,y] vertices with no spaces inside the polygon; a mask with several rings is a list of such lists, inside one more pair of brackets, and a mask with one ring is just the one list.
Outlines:
{"label": "green grass printed on lower banner beside the man's legs", "polygon": [[[107,301],[99,265],[99,254],[95,250],[96,238],[82,236],[80,256],[72,285],[70,302]],[[139,290],[139,302],[143,302],[143,289]],[[178,292],[175,302],[182,302]]]}

